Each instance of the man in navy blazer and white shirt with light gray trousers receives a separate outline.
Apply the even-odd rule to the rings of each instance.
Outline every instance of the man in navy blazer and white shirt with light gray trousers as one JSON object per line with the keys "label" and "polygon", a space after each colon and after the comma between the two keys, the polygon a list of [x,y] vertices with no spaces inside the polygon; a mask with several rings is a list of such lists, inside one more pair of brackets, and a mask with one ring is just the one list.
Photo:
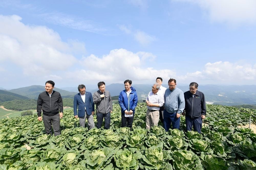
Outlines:
{"label": "man in navy blazer and white shirt with light gray trousers", "polygon": [[[94,103],[92,94],[85,90],[85,85],[78,85],[79,93],[74,96],[74,116],[79,117],[80,126],[85,127],[85,119],[87,118],[89,129],[95,127],[93,121]],[[78,106],[78,113],[77,113]]]}

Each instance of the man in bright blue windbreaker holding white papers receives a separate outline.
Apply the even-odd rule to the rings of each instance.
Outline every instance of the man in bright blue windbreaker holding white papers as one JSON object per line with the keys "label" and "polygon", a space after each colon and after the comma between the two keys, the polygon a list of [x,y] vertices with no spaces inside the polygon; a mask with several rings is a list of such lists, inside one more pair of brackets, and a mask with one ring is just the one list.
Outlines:
{"label": "man in bright blue windbreaker holding white papers", "polygon": [[135,113],[135,107],[138,103],[138,96],[136,90],[132,87],[131,80],[124,81],[125,90],[121,91],[119,95],[119,105],[121,107],[121,123],[122,127],[130,127],[132,130],[132,122]]}

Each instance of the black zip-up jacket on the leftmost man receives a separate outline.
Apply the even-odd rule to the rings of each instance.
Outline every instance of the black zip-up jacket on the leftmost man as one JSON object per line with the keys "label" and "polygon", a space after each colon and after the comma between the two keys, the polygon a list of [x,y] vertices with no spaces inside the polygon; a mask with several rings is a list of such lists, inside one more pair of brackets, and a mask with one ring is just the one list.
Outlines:
{"label": "black zip-up jacket on the leftmost man", "polygon": [[63,112],[63,103],[60,93],[58,91],[52,91],[51,97],[47,91],[39,94],[37,99],[37,116],[41,116],[41,111],[43,115],[52,116],[59,112]]}

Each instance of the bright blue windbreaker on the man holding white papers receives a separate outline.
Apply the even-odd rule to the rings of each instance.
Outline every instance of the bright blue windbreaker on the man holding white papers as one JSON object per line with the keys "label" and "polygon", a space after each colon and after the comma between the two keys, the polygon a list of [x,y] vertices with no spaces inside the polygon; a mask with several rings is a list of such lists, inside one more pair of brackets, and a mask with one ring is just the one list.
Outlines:
{"label": "bright blue windbreaker on the man holding white papers", "polygon": [[132,92],[129,94],[129,97],[127,97],[125,90],[120,92],[118,102],[121,107],[122,113],[124,113],[125,110],[127,110],[128,112],[130,110],[132,110],[133,113],[135,112],[135,107],[138,103],[138,96],[135,88],[131,87],[131,90]]}

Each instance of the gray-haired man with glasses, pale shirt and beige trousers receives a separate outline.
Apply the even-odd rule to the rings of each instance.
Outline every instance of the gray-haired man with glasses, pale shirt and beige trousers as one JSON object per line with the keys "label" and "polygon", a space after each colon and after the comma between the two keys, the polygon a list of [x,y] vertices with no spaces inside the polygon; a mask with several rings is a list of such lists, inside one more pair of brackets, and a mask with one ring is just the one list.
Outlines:
{"label": "gray-haired man with glasses, pale shirt and beige trousers", "polygon": [[160,84],[155,83],[152,86],[152,91],[147,95],[147,113],[146,113],[146,128],[151,126],[158,126],[159,109],[164,104],[164,97],[159,93]]}

